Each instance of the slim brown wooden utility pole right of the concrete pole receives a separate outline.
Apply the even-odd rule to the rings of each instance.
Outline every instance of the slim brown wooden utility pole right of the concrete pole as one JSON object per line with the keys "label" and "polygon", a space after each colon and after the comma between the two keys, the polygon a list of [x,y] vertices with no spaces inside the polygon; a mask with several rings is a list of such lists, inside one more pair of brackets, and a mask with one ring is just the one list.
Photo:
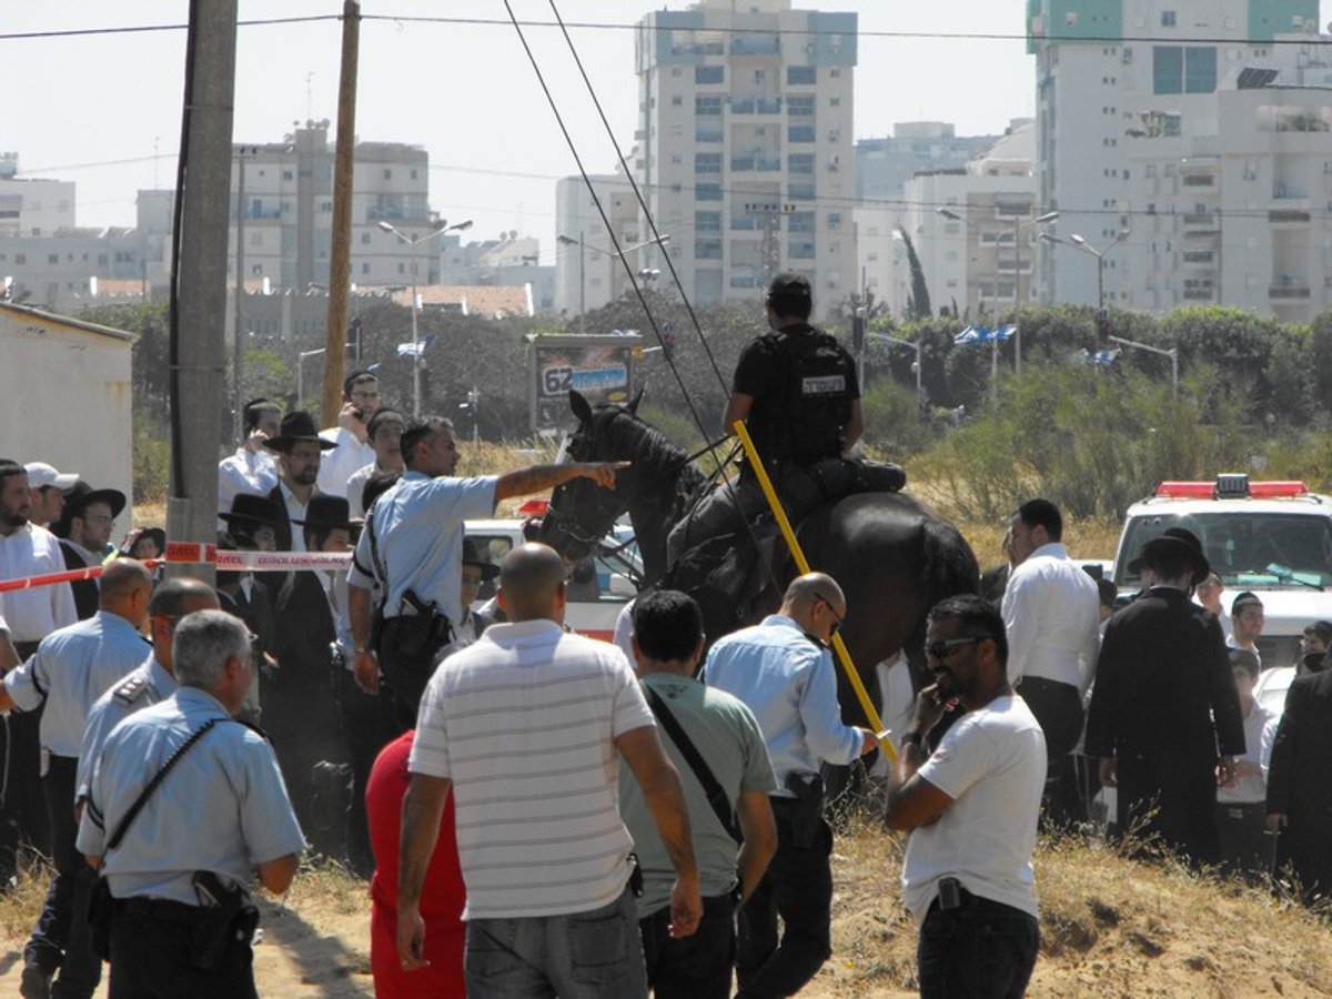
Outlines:
{"label": "slim brown wooden utility pole right of the concrete pole", "polygon": [[346,370],[346,301],[352,294],[352,170],[356,161],[356,71],[361,43],[360,0],[342,0],[342,71],[337,92],[333,153],[333,248],[329,253],[329,310],[324,329],[322,426],[337,426]]}

